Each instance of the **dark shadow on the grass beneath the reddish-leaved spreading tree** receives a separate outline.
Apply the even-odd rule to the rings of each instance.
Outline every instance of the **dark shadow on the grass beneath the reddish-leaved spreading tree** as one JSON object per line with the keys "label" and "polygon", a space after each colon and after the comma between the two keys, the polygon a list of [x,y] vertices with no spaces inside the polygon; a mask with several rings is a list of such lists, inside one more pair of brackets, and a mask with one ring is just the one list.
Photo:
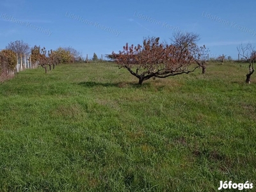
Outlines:
{"label": "dark shadow on the grass beneath the reddish-leaved spreading tree", "polygon": [[93,88],[95,86],[118,87],[118,88],[145,88],[150,86],[150,83],[143,83],[142,85],[140,85],[138,83],[131,83],[131,82],[100,83],[95,81],[80,82],[77,84],[87,88]]}

